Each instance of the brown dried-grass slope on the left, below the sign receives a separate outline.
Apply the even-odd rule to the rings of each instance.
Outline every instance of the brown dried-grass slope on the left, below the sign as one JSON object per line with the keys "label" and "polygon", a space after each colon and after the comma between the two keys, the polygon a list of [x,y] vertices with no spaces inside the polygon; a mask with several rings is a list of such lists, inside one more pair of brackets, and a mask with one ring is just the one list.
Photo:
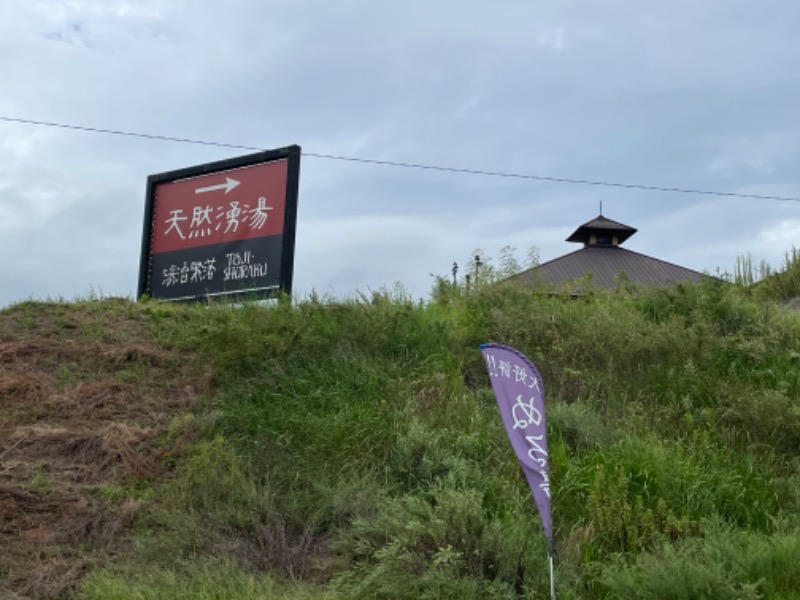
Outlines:
{"label": "brown dried-grass slope on the left, below the sign", "polygon": [[58,598],[124,548],[198,394],[123,300],[0,311],[0,597]]}

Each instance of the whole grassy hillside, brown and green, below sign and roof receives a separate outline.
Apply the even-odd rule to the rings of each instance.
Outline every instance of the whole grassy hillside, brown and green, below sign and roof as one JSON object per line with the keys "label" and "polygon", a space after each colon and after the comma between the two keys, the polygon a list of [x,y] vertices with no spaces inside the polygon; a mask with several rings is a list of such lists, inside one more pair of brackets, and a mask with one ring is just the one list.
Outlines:
{"label": "whole grassy hillside, brown and green, below sign and roof", "polygon": [[488,341],[544,380],[559,598],[797,597],[800,316],[719,282],[6,309],[0,592],[548,597]]}

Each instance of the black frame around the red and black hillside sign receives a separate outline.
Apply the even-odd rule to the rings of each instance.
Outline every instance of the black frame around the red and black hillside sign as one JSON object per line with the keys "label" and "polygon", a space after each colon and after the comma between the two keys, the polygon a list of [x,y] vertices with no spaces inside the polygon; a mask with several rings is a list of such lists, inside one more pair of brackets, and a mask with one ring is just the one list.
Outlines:
{"label": "black frame around the red and black hillside sign", "polygon": [[[211,298],[240,299],[265,299],[280,295],[291,295],[294,279],[294,252],[297,230],[297,199],[300,184],[300,156],[301,148],[298,145],[286,146],[274,150],[264,150],[255,154],[248,154],[226,160],[220,160],[174,171],[157,173],[147,178],[147,192],[145,195],[144,226],[142,233],[142,248],[139,261],[139,284],[137,298],[148,298],[170,302],[198,302],[208,301]],[[277,287],[256,287],[245,290],[230,290],[210,292],[181,297],[159,298],[153,296],[153,254],[151,252],[154,232],[156,188],[164,183],[182,179],[191,179],[204,175],[213,175],[235,169],[257,166],[269,162],[286,160],[286,194],[284,198],[283,233],[280,250],[280,277]],[[256,238],[260,239],[260,238]],[[201,246],[202,247],[202,246]]]}

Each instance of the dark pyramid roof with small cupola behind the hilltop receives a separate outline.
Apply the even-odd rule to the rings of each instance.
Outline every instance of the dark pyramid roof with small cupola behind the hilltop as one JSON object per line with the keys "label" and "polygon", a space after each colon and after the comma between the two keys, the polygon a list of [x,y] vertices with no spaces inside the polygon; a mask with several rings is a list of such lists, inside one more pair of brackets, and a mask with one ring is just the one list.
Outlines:
{"label": "dark pyramid roof with small cupola behind the hilltop", "polygon": [[[590,276],[593,285],[616,289],[622,282],[643,286],[670,286],[698,282],[705,275],[652,256],[622,248],[636,229],[602,215],[584,223],[567,238],[583,248],[523,271],[522,283],[566,284]],[[578,290],[573,290],[578,291]]]}

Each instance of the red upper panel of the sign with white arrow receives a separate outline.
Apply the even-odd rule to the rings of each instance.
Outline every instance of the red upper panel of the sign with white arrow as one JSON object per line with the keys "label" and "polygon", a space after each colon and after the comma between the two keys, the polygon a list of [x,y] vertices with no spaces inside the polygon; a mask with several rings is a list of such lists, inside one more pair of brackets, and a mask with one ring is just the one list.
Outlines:
{"label": "red upper panel of the sign with white arrow", "polygon": [[151,252],[283,233],[287,161],[161,183]]}

